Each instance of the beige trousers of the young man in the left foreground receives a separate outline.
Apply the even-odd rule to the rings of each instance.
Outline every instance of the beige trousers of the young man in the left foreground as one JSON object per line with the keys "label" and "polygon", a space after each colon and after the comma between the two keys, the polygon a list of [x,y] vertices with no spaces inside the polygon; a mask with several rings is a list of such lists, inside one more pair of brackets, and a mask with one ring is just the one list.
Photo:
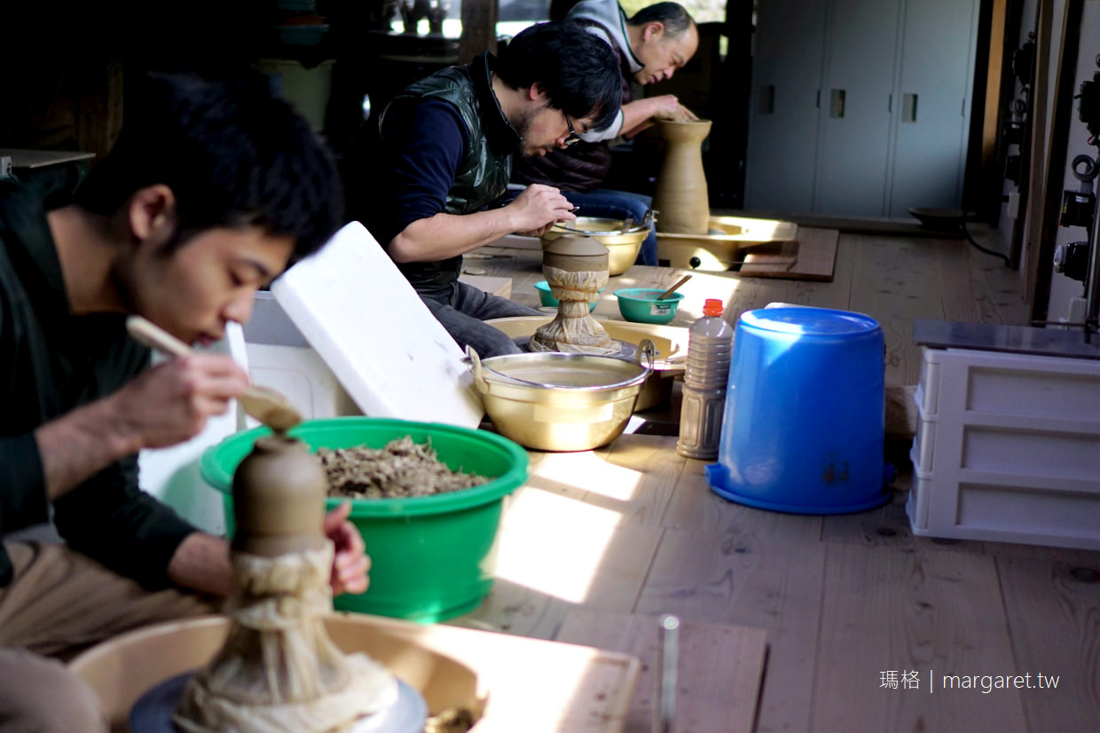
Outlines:
{"label": "beige trousers of the young man in the left foreground", "polygon": [[0,588],[0,733],[99,733],[91,689],[63,661],[117,634],[218,610],[210,598],[151,593],[64,545],[4,543]]}

